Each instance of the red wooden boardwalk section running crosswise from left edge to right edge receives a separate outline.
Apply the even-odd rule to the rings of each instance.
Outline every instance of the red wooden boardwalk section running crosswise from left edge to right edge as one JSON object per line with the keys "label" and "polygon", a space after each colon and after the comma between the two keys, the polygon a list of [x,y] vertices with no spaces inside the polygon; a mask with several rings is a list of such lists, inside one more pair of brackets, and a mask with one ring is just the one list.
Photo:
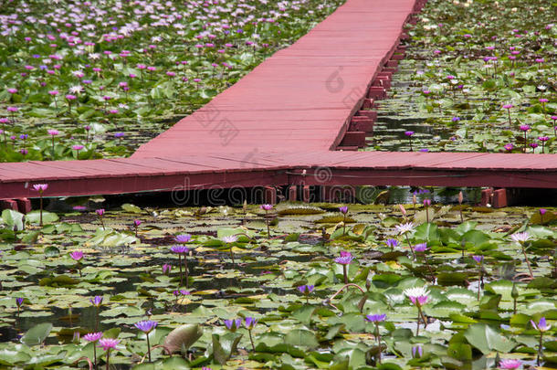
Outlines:
{"label": "red wooden boardwalk section running crosswise from left edge to right edge", "polygon": [[[257,185],[441,185],[557,188],[553,154],[307,152],[3,164],[3,198]],[[304,174],[305,170],[305,174]],[[25,186],[27,186],[25,188]]]}

